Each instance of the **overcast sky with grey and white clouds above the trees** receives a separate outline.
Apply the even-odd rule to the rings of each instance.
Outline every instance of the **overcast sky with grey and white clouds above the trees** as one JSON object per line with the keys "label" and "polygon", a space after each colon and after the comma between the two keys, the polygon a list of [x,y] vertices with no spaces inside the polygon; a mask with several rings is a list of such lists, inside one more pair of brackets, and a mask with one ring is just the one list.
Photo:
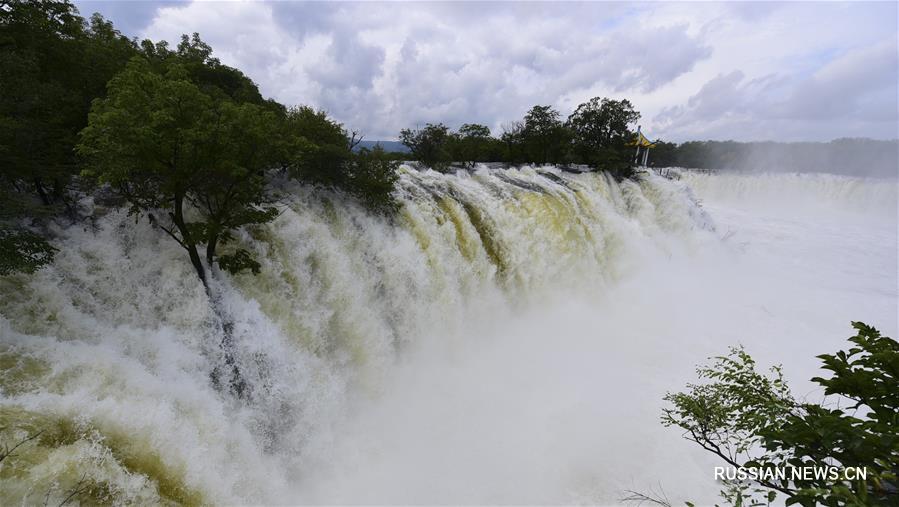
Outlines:
{"label": "overcast sky with grey and white clouds above the trees", "polygon": [[628,98],[651,137],[899,137],[897,3],[76,1],[126,35],[199,32],[266,96],[367,139],[426,122],[501,131]]}

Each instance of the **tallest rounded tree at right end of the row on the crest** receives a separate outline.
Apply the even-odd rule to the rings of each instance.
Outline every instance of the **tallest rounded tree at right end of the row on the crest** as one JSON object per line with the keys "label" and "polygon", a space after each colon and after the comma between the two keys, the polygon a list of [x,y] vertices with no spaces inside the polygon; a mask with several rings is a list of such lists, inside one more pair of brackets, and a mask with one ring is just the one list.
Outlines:
{"label": "tallest rounded tree at right end of the row on the crest", "polygon": [[594,97],[568,117],[573,148],[581,163],[605,169],[619,177],[630,175],[634,140],[630,127],[640,119],[629,100]]}

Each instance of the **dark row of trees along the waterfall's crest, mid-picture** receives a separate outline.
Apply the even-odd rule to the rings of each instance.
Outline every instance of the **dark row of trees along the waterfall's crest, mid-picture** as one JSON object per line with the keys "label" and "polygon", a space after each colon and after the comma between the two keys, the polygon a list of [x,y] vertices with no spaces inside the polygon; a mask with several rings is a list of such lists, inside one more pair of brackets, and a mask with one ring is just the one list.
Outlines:
{"label": "dark row of trees along the waterfall's crest, mid-picture", "polygon": [[579,105],[567,119],[551,106],[532,107],[524,118],[490,128],[466,123],[452,131],[443,123],[403,129],[399,138],[408,157],[437,170],[452,163],[583,164],[622,178],[631,175],[635,133],[640,113],[628,100],[595,97]]}

